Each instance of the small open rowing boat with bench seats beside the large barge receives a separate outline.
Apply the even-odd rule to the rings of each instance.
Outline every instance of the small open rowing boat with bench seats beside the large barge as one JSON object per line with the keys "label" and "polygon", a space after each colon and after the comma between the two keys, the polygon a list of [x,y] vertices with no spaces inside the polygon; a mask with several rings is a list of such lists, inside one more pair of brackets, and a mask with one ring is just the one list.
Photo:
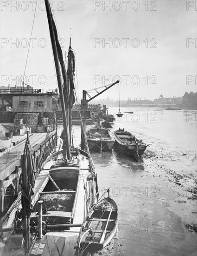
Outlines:
{"label": "small open rowing boat with bench seats beside the large barge", "polygon": [[[109,194],[109,189],[106,189]],[[89,210],[78,236],[77,252],[86,255],[103,249],[114,237],[118,225],[118,206],[109,196]]]}

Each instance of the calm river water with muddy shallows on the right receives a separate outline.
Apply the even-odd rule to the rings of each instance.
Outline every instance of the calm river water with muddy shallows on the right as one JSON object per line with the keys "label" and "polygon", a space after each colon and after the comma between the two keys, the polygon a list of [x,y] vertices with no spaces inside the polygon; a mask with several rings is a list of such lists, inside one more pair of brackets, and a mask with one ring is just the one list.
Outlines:
{"label": "calm river water with muddy shallows on the right", "polygon": [[140,162],[117,149],[91,152],[99,187],[110,188],[119,206],[119,250],[108,255],[196,256],[197,112],[124,111],[133,114],[116,117],[111,130],[125,128],[148,145]]}

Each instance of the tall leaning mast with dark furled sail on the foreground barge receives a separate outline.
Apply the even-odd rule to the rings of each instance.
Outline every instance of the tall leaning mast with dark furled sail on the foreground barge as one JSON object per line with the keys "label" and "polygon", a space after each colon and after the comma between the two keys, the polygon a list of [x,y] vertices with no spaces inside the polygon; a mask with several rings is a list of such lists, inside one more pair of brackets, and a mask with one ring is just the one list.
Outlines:
{"label": "tall leaning mast with dark furled sail on the foreground barge", "polygon": [[[60,71],[60,66],[59,66],[59,61],[61,61],[61,57],[62,57],[61,56],[62,50],[61,50],[61,47],[60,47],[58,39],[57,39],[57,30],[56,30],[56,27],[54,26],[54,20],[52,18],[51,7],[49,5],[49,1],[44,0],[44,2],[45,2],[45,6],[46,6],[47,19],[48,19],[48,23],[49,23],[51,44],[52,44],[53,56],[54,56],[54,61],[55,61],[56,74],[57,74],[57,84],[58,84],[59,96],[60,96],[62,114],[63,114],[64,137],[65,137],[65,142],[66,142],[65,143],[66,144],[65,145],[66,146],[65,157],[70,159],[70,143],[69,143],[70,139],[69,139],[69,130],[68,130],[68,115],[66,113],[66,105],[68,106],[68,101],[67,101],[67,104],[64,101],[64,99],[65,100],[68,99],[68,90],[66,91],[66,89],[65,89],[65,86],[66,86],[65,83],[67,83],[67,81],[66,81],[67,74],[66,74],[66,72],[63,73],[63,77],[64,77],[64,90],[63,90],[62,81],[61,81],[61,71]],[[62,57],[62,59],[63,59],[63,57]],[[64,69],[65,69],[65,66],[64,66]],[[62,71],[63,71],[63,67],[62,67]]]}

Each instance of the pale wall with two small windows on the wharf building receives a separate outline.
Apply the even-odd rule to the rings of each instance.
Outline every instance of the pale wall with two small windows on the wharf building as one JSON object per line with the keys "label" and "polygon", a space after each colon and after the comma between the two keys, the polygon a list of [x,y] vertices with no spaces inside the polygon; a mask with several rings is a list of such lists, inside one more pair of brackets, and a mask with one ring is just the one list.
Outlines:
{"label": "pale wall with two small windows on the wharf building", "polygon": [[[22,104],[21,101],[23,101]],[[36,103],[34,103],[34,101],[36,101]],[[40,106],[37,104],[38,102],[40,102]],[[37,94],[36,96],[13,96],[13,112],[48,112],[52,110],[52,95],[50,94]]]}

